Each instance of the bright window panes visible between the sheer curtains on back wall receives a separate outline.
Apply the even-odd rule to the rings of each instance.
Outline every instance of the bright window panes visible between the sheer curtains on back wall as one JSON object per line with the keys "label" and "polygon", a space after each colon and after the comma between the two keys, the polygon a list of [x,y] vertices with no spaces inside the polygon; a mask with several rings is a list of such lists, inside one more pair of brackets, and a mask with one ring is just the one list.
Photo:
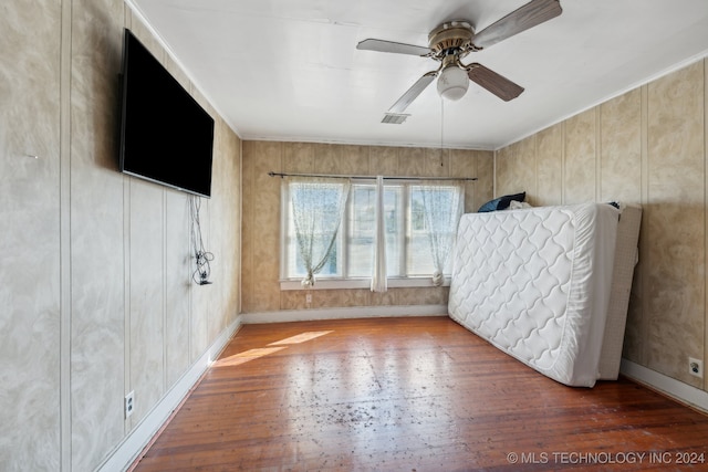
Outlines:
{"label": "bright window panes visible between the sheer curtains on back wall", "polygon": [[[294,186],[294,187],[293,187]],[[442,211],[454,221],[451,229],[442,232],[454,237],[457,221],[462,213],[464,186],[451,182],[418,182],[391,180],[384,183],[384,224],[386,234],[386,275],[388,279],[412,280],[428,279],[436,271],[431,252],[431,235],[440,234],[439,218],[430,218],[425,211],[424,190],[434,189],[442,196]],[[282,187],[283,204],[283,263],[282,280],[300,281],[306,275],[305,264],[300,255],[295,235],[293,217],[293,192],[296,183],[284,180]],[[332,190],[334,191],[334,190]],[[334,196],[331,198],[334,200]],[[429,199],[429,197],[428,197]],[[323,198],[322,201],[325,201]],[[428,201],[428,206],[430,201]],[[374,271],[374,241],[376,232],[375,219],[376,185],[372,180],[356,180],[351,185],[348,199],[344,210],[336,239],[326,263],[316,274],[316,285],[324,281],[360,281],[358,285],[339,284],[337,286],[368,286]],[[312,211],[326,211],[325,206],[316,206]],[[317,214],[317,218],[326,218]],[[316,241],[315,241],[316,243]],[[444,274],[451,271],[451,258],[447,258]],[[427,282],[427,280],[426,280]],[[326,285],[326,284],[324,284]],[[296,285],[290,286],[292,289]]]}

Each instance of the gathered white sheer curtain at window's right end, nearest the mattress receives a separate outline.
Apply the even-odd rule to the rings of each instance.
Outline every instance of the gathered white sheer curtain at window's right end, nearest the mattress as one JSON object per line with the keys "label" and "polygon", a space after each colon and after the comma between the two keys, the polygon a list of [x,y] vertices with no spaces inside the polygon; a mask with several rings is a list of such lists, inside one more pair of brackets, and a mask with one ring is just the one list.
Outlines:
{"label": "gathered white sheer curtain at window's right end, nearest the mattress", "polygon": [[445,185],[424,182],[420,192],[435,265],[433,285],[439,286],[442,285],[445,263],[455,244],[455,233],[465,202],[465,185],[461,181]]}

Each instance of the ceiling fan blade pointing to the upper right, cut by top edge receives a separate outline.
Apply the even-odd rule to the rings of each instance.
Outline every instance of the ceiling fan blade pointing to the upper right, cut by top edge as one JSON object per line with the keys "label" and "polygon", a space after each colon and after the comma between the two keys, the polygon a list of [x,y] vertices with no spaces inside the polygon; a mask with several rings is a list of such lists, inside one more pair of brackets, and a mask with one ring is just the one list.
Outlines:
{"label": "ceiling fan blade pointing to the upper right, cut by top edge", "polygon": [[476,48],[485,49],[549,21],[563,12],[559,0],[532,0],[485,28],[472,38]]}

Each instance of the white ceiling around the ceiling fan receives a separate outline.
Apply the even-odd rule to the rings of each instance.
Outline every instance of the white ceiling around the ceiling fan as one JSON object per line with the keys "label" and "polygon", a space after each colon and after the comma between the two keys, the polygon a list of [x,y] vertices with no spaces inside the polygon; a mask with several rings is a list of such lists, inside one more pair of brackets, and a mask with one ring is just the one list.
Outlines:
{"label": "white ceiling around the ceiling fan", "polygon": [[518,98],[470,83],[441,106],[431,84],[404,124],[381,123],[438,63],[360,41],[427,46],[442,21],[481,31],[528,1],[127,0],[244,139],[498,149],[708,53],[708,0],[561,0],[560,17],[464,60]]}

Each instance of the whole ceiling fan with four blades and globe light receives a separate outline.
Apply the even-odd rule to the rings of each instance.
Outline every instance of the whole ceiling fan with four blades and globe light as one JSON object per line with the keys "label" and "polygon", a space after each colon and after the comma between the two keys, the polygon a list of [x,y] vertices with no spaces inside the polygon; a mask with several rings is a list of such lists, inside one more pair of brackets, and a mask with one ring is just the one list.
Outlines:
{"label": "whole ceiling fan with four blades and globe light", "polygon": [[[393,104],[388,109],[387,116],[403,114],[408,105],[430,85],[435,77],[438,77],[438,93],[444,98],[461,98],[467,93],[469,81],[472,81],[499,98],[509,102],[518,97],[523,92],[523,87],[476,62],[464,64],[461,59],[470,52],[481,51],[507,38],[549,21],[560,15],[562,11],[560,0],[532,0],[478,33],[466,20],[445,22],[430,32],[427,48],[368,39],[360,42],[356,49],[418,55],[434,59],[440,63],[437,70],[430,71],[418,78]],[[386,118],[384,118],[384,123],[388,123]]]}

